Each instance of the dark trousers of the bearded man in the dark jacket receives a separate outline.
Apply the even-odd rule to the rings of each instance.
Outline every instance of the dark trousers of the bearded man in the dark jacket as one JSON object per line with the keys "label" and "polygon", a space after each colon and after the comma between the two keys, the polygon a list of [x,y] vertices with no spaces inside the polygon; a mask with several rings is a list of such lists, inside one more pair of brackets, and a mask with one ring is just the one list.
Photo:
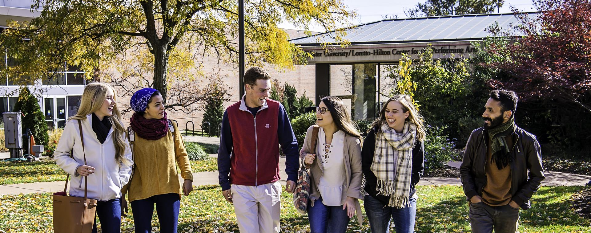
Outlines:
{"label": "dark trousers of the bearded man in the dark jacket", "polygon": [[472,232],[495,233],[517,231],[517,221],[519,220],[519,208],[512,208],[510,205],[489,206],[484,202],[470,204],[470,226]]}

